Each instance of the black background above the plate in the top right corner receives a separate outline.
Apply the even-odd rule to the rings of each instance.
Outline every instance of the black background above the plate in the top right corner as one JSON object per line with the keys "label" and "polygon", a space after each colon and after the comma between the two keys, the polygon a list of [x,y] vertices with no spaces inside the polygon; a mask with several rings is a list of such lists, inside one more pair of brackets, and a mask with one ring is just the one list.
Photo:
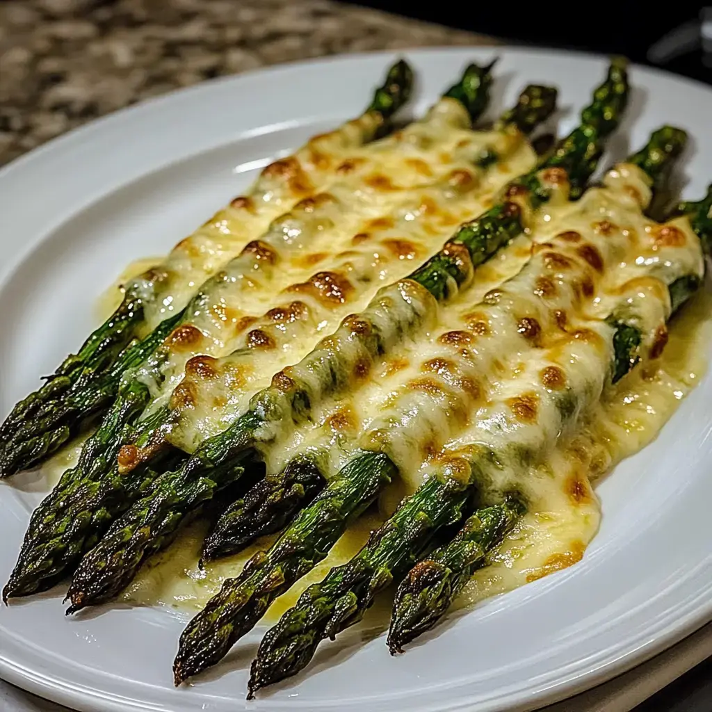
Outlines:
{"label": "black background above the plate in the top right corner", "polygon": [[[622,54],[652,64],[648,51],[662,37],[686,23],[695,23],[708,3],[591,2],[570,4],[465,0],[359,0],[350,4],[372,7],[425,21],[501,38],[509,43]],[[694,32],[694,27],[692,29]],[[656,66],[712,84],[709,67],[697,48]]]}

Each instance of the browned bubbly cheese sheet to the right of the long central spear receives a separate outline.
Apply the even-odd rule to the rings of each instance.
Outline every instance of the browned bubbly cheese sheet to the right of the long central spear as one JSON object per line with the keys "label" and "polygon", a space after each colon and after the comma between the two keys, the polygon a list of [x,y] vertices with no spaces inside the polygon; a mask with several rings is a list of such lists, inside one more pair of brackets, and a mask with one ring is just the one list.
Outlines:
{"label": "browned bubbly cheese sheet to the right of the long central spear", "polygon": [[[682,274],[701,275],[703,261],[686,221],[659,226],[642,216],[643,190],[642,172],[619,167],[605,187],[549,211],[533,246],[515,244],[506,258],[478,271],[474,286],[454,303],[438,308],[426,299],[432,313],[410,340],[352,382],[345,396],[323,401],[313,424],[266,450],[270,471],[311,452],[328,461],[322,466],[331,475],[362,446],[387,452],[415,488],[422,459],[483,417],[481,406],[499,384],[516,382],[536,350],[556,343],[564,356],[574,340],[605,340],[595,323],[585,322],[609,315],[624,301],[622,290],[639,288],[646,296],[636,298],[640,319],[658,328],[659,304],[667,305],[664,285]],[[492,289],[488,279],[498,281],[506,271],[515,276]]]}

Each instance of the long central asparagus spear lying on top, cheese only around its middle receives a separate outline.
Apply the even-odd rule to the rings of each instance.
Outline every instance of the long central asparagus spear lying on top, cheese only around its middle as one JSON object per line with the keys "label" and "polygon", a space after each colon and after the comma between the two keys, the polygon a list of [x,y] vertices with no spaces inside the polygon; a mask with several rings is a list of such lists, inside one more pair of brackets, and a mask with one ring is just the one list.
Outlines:
{"label": "long central asparagus spear lying on top, cheese only around its middle", "polygon": [[[619,86],[622,72],[624,69],[617,63],[612,64],[604,86]],[[624,91],[614,95],[604,93],[608,107],[601,112],[604,130],[612,129],[614,122],[610,117],[620,116],[626,97]],[[542,169],[515,181],[506,190],[508,196],[516,197],[525,206],[536,207],[550,199],[554,187],[562,187],[565,174],[569,174],[570,184],[585,182],[601,152],[600,143],[592,142],[596,135],[596,127],[590,125],[572,132]],[[557,169],[553,174],[551,167]],[[547,176],[552,179],[549,184]],[[134,575],[140,557],[132,556],[127,561],[120,552],[127,545],[129,530],[142,540],[142,547],[154,552],[152,529],[156,530],[156,538],[164,538],[165,521],[177,527],[182,516],[194,511],[206,497],[234,483],[242,472],[244,459],[261,448],[274,446],[281,434],[308,417],[316,402],[347,389],[358,363],[370,365],[419,330],[434,317],[433,297],[440,301],[453,295],[459,286],[471,281],[474,265],[486,261],[521,231],[522,209],[504,199],[480,219],[461,227],[455,239],[409,279],[381,290],[364,313],[345,319],[334,335],[298,365],[276,374],[271,387],[253,397],[251,409],[233,426],[201,444],[179,471],[160,477],[152,491],[112,525],[107,539],[85,557],[75,572],[68,593],[73,604],[71,610],[94,600],[105,600],[120,590],[112,581],[122,586],[127,577]],[[120,530],[125,533],[123,537],[116,534]],[[129,576],[126,565],[132,567]],[[108,575],[110,569],[112,576]]]}

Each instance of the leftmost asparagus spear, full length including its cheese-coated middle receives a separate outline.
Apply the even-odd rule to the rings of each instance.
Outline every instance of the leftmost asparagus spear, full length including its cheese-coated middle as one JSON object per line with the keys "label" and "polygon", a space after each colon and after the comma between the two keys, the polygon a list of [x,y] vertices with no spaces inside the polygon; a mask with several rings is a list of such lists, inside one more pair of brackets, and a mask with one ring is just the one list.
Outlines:
{"label": "leftmost asparagus spear, full length including its cheese-coated middle", "polygon": [[[477,101],[478,93],[473,89],[476,81],[478,78],[487,81],[487,77],[487,73],[484,78],[478,74],[477,68],[472,68],[468,73],[468,85],[472,88],[471,103]],[[348,122],[333,135],[323,137],[321,140],[348,149],[383,135],[390,126],[389,120],[394,112],[399,110],[409,98],[412,82],[411,68],[404,61],[397,62],[387,73],[384,85],[375,91],[372,102],[362,117]],[[317,145],[318,140],[313,140],[297,153],[296,159],[301,153],[305,157],[308,156],[312,147]],[[286,165],[286,162],[282,161],[281,165]],[[255,211],[258,215],[269,214],[267,207],[273,211],[273,206],[281,205],[280,196],[285,193],[285,189],[293,192],[293,189],[288,187],[289,181],[280,173],[286,171],[268,167],[263,171],[261,179],[258,179],[250,194],[233,201],[231,209],[238,211],[242,221],[253,221],[252,214]],[[313,173],[313,177],[318,178],[320,169],[314,166]],[[303,177],[308,179],[308,174],[303,174]],[[281,186],[281,183],[284,185]],[[271,197],[263,200],[263,194],[266,193]],[[288,195],[289,193],[285,197]],[[300,194],[295,194],[295,199],[298,197]],[[224,221],[218,222],[219,225],[214,228],[213,236],[210,235],[209,229],[204,228],[205,234],[200,238],[206,243],[202,246],[210,248],[209,251],[197,250],[193,246],[194,253],[199,254],[201,259],[204,259],[202,257],[204,253],[209,252],[218,256],[222,251],[225,258],[229,258],[231,249],[234,253],[234,241],[233,244],[221,247],[221,244],[229,241],[224,234]],[[0,449],[0,476],[9,476],[43,461],[75,434],[88,417],[105,409],[111,402],[120,376],[120,372],[117,375],[112,367],[122,357],[122,352],[126,348],[131,350],[132,339],[142,328],[150,325],[151,312],[157,309],[156,305],[171,294],[179,283],[184,281],[186,284],[191,284],[196,278],[196,266],[191,262],[196,258],[191,256],[189,247],[187,241],[183,241],[174,248],[159,268],[154,268],[132,280],[127,285],[125,297],[115,313],[88,337],[75,355],[70,355],[62,362],[40,389],[16,404],[0,426],[0,440],[3,441]],[[219,266],[220,263],[217,261],[212,271],[217,271]],[[173,309],[180,309],[181,306],[173,300]],[[123,355],[123,357],[127,356]],[[133,356],[128,358],[132,360]],[[105,377],[108,370],[114,372],[113,379]],[[97,386],[95,380],[103,376],[103,383]],[[87,389],[90,392],[86,392]],[[66,399],[70,400],[70,405],[64,403]],[[33,423],[30,433],[26,432],[28,422]],[[31,439],[31,442],[25,442],[27,439]]]}

